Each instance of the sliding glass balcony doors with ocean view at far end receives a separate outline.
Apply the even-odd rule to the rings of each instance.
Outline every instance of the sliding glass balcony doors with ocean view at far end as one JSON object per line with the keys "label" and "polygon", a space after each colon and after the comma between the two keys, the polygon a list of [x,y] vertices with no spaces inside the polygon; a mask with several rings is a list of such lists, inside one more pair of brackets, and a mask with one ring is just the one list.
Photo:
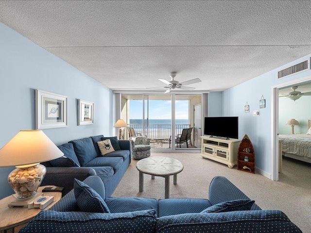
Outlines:
{"label": "sliding glass balcony doors with ocean view at far end", "polygon": [[[121,118],[134,129],[136,136],[150,138],[153,150],[197,148],[195,141],[198,137],[194,136],[194,106],[201,103],[201,95],[121,94],[121,102]],[[190,129],[186,135],[187,140],[176,143],[183,129]],[[129,136],[128,132],[123,133],[123,138]],[[198,150],[200,149],[201,146]]]}

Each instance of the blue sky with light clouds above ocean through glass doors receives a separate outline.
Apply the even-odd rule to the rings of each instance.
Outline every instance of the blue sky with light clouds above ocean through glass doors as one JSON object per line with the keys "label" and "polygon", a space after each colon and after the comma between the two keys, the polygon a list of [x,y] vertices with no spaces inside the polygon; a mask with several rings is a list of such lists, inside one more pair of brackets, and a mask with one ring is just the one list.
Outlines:
{"label": "blue sky with light clouds above ocean through glass doors", "polygon": [[[175,107],[176,119],[188,119],[188,100],[176,100]],[[130,118],[142,118],[142,100],[130,100]],[[149,100],[149,119],[171,119],[171,100]]]}

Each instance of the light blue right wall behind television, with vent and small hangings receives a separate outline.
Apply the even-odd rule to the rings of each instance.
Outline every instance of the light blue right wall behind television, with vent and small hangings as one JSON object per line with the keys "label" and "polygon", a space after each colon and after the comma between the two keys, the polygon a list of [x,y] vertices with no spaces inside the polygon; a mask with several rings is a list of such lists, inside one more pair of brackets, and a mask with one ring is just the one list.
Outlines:
{"label": "light blue right wall behind television, with vent and small hangings", "polygon": [[[310,56],[311,54],[223,92],[224,116],[239,116],[239,138],[242,139],[244,134],[249,136],[255,149],[256,166],[268,176],[273,171],[271,164],[273,156],[271,154],[272,86],[311,75],[311,71],[308,70],[277,80],[277,71],[299,63],[302,59],[310,59]],[[259,100],[262,95],[266,100],[266,108],[260,109]],[[244,113],[246,101],[249,104],[249,113]],[[252,116],[254,110],[259,110],[260,116]]]}

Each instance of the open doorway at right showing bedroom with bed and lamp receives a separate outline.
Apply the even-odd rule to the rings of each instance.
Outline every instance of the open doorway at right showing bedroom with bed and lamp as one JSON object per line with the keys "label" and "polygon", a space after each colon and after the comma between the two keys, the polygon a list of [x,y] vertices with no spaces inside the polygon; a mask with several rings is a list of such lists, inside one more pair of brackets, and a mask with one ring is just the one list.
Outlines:
{"label": "open doorway at right showing bedroom with bed and lamp", "polygon": [[[278,103],[280,159],[311,162],[311,83],[296,83],[279,89]],[[282,166],[279,167],[279,172]]]}

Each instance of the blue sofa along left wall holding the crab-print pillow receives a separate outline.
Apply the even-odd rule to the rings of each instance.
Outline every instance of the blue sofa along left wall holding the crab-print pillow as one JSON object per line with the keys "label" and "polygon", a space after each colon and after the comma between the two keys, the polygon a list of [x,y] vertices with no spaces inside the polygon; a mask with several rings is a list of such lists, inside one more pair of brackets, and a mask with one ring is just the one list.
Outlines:
{"label": "blue sofa along left wall holding the crab-print pillow", "polygon": [[[110,139],[116,150],[103,156],[97,142],[105,139]],[[64,187],[63,196],[73,189],[74,179],[83,181],[97,175],[104,182],[105,196],[109,197],[131,163],[130,141],[118,140],[117,137],[96,135],[69,141],[58,148],[66,158],[42,163],[47,167],[47,173],[41,186]]]}

